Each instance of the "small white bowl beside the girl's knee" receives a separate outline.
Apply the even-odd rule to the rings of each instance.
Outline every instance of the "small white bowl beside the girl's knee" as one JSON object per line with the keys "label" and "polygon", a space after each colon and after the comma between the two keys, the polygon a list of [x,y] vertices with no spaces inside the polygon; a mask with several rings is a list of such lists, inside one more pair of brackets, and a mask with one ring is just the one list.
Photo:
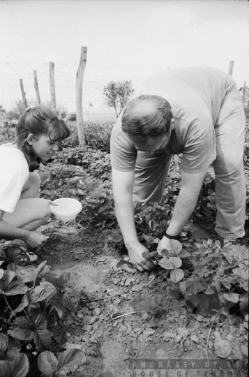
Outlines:
{"label": "small white bowl beside the girl's knee", "polygon": [[57,205],[50,205],[51,211],[57,220],[66,223],[73,221],[77,214],[82,210],[79,200],[72,198],[59,198],[53,201]]}

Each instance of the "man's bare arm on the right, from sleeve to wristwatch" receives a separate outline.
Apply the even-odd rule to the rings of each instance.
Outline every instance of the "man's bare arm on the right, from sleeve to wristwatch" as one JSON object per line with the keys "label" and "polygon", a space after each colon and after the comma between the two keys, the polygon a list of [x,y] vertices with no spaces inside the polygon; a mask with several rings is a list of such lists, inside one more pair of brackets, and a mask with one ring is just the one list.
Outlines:
{"label": "man's bare arm on the right, from sleeve to wristwatch", "polygon": [[168,235],[178,235],[193,214],[205,175],[206,170],[194,174],[181,173],[181,190],[174,206],[172,220],[167,228]]}

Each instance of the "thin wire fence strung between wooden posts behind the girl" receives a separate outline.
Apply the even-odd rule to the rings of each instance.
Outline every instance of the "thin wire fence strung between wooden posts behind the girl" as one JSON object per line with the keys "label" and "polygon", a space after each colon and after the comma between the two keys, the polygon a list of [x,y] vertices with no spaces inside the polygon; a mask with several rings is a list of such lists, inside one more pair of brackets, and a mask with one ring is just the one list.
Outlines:
{"label": "thin wire fence strung between wooden posts behind the girl", "polygon": [[[79,61],[54,64],[54,84],[56,108],[75,112],[76,74]],[[50,70],[47,63],[0,63],[0,105],[6,111],[13,110],[17,101],[22,100],[20,79],[24,85],[27,104],[36,103],[34,75],[36,71],[38,88],[42,103],[50,101]],[[130,73],[132,71],[132,73]],[[84,113],[114,115],[114,110],[105,105],[103,87],[111,80],[131,80],[136,89],[146,78],[159,70],[134,68],[129,66],[110,66],[96,61],[87,61],[83,78],[82,106]]]}

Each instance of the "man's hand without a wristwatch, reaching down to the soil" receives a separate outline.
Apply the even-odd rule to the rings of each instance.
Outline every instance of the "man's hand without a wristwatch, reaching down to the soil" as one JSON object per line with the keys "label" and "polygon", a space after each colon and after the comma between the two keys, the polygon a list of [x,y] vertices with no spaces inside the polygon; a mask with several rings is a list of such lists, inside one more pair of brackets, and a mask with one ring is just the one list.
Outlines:
{"label": "man's hand without a wristwatch, reaching down to the soil", "polygon": [[155,268],[157,263],[156,260],[151,258],[144,258],[142,254],[148,252],[149,250],[142,244],[134,244],[134,246],[129,246],[128,248],[130,263],[138,269],[139,272],[150,271]]}

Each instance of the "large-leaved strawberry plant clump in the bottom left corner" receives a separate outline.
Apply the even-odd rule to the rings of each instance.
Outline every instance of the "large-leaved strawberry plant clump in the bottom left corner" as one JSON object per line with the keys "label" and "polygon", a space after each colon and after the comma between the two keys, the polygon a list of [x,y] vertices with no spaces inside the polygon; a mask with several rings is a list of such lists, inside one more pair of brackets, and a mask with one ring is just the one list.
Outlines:
{"label": "large-leaved strawberry plant clump in the bottom left corner", "polygon": [[[46,261],[37,267],[20,263],[20,244],[15,242],[1,245],[1,267],[5,269],[0,268],[0,375],[20,377],[29,371],[29,359],[20,350],[27,347],[40,353],[50,348],[56,315],[63,318],[75,311],[78,295],[70,288],[70,274],[46,279],[50,271]],[[77,355],[62,357],[51,376],[62,376],[68,360],[74,364]]]}

